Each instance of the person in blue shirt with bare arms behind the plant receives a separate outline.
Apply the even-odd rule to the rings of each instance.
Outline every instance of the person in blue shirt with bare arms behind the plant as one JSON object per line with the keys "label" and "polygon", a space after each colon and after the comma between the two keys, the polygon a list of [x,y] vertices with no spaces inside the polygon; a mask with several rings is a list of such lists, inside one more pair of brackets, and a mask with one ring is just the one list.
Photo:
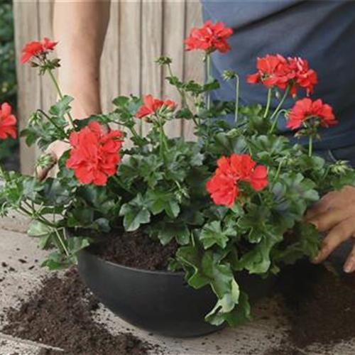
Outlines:
{"label": "person in blue shirt with bare arms behind the plant", "polygon": [[[222,71],[235,69],[243,79],[255,71],[257,57],[267,53],[302,56],[317,70],[317,95],[332,104],[341,124],[322,132],[315,144],[319,155],[348,160],[355,168],[355,3],[352,0],[201,0],[204,21],[223,21],[234,29],[229,53],[212,55],[212,75],[222,87],[212,99],[233,100],[235,89],[222,80]],[[223,3],[223,4],[222,4]],[[109,23],[110,1],[55,1],[55,40],[62,59],[59,80],[63,92],[75,97],[72,116],[77,119],[101,111],[99,64]],[[89,23],[89,26],[88,26]],[[241,103],[263,102],[262,87],[241,80]],[[275,107],[276,101],[273,102]],[[290,107],[292,99],[285,106]],[[288,131],[280,123],[285,135]],[[55,142],[48,151],[53,161],[67,150]],[[52,168],[40,171],[44,178]],[[305,221],[325,233],[315,263],[332,253],[348,253],[344,271],[355,271],[355,187],[330,192],[307,212]],[[340,247],[342,245],[342,247]],[[336,253],[337,251],[337,253]]]}

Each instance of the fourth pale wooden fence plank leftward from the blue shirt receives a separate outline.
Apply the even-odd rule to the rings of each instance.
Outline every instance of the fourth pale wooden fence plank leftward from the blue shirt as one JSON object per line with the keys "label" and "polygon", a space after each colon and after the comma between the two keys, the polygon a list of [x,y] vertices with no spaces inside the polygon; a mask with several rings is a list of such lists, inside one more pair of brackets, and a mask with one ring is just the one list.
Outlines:
{"label": "fourth pale wooden fence plank leftward from the blue shirt", "polygon": [[[141,0],[121,0],[119,8],[119,94],[141,95]],[[141,120],[136,120],[141,131]],[[127,132],[125,147],[131,134]]]}

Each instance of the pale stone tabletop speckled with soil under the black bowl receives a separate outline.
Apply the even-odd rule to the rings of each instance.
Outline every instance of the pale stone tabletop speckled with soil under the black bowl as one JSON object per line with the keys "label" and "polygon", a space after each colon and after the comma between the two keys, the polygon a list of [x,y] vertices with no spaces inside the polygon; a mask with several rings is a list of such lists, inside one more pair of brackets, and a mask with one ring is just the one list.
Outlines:
{"label": "pale stone tabletop speckled with soil under the black bowl", "polygon": [[[6,263],[6,267],[0,266],[0,316],[6,307],[26,298],[28,290],[38,286],[40,276],[49,273],[40,268],[44,253],[38,249],[35,239],[24,233],[27,226],[28,221],[16,214],[0,220],[0,262]],[[151,344],[160,345],[165,355],[263,355],[267,349],[280,344],[284,337],[283,329],[287,327],[278,303],[278,299],[273,298],[256,305],[253,312],[255,320],[245,327],[224,329],[197,339],[168,339],[149,334],[120,320],[104,307],[100,307],[95,317],[98,322],[105,322],[113,333],[132,332]],[[0,317],[0,327],[5,321]],[[0,355],[38,355],[41,347],[45,345],[0,334]],[[326,353],[319,346],[313,346],[309,351],[300,351],[299,354]],[[355,343],[339,344],[327,354],[355,354]]]}

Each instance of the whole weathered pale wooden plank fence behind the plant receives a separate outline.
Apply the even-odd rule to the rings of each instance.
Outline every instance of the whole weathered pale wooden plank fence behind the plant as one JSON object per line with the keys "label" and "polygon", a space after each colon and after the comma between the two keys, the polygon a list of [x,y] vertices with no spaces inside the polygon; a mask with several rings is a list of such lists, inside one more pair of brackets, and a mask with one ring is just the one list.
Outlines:
{"label": "whole weathered pale wooden plank fence behind the plant", "polygon": [[[54,0],[14,0],[18,58],[24,43],[45,36],[52,38],[53,3]],[[111,0],[101,69],[104,111],[111,109],[111,100],[119,94],[151,93],[179,102],[175,89],[164,80],[168,73],[154,62],[160,55],[173,58],[173,71],[178,77],[203,80],[201,53],[186,53],[182,45],[190,28],[201,22],[199,0]],[[36,70],[28,66],[18,65],[17,76],[18,116],[23,128],[32,111],[48,109],[55,102],[55,92],[47,78],[38,77]],[[146,124],[141,130],[146,133]],[[187,121],[170,123],[167,131],[170,136],[192,138]],[[38,154],[35,148],[21,142],[24,173],[33,172]]]}

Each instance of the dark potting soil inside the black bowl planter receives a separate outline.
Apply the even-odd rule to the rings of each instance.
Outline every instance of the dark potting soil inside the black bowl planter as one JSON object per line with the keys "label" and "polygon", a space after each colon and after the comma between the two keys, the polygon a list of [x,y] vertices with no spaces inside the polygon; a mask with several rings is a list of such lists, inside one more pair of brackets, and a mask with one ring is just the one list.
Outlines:
{"label": "dark potting soil inside the black bowl planter", "polygon": [[94,253],[107,261],[143,270],[167,270],[177,250],[178,244],[174,241],[163,246],[141,231],[116,231],[93,249]]}

